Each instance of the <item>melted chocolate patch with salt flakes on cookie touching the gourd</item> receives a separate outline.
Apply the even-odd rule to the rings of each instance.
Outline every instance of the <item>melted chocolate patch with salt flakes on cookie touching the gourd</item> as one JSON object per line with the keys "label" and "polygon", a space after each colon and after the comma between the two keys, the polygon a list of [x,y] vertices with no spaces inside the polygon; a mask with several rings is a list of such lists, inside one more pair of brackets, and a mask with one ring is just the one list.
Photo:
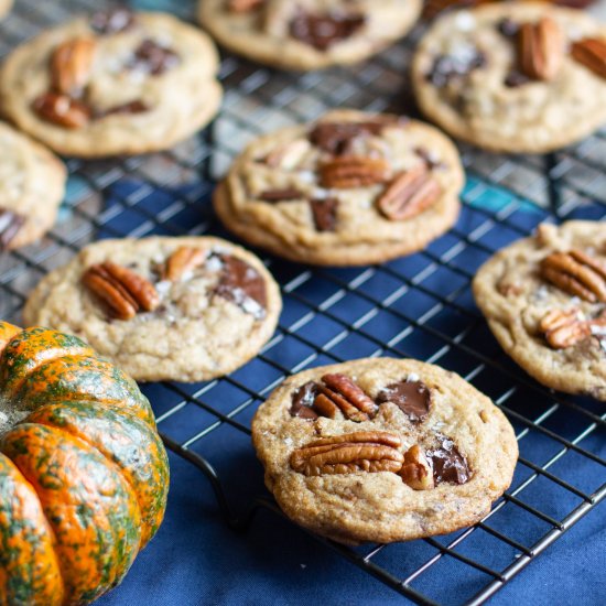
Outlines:
{"label": "melted chocolate patch with salt flakes on cookie touching the gourd", "polygon": [[216,255],[219,259],[221,272],[215,293],[227,301],[236,303],[246,313],[257,320],[266,316],[267,289],[263,277],[246,261],[231,255]]}

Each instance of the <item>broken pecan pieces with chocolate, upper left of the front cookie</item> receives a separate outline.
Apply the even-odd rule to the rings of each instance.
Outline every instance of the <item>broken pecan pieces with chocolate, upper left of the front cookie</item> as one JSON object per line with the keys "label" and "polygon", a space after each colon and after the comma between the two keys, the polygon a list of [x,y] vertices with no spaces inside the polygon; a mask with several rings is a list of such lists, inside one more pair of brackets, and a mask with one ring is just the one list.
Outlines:
{"label": "broken pecan pieces with chocolate, upper left of the front cookie", "polygon": [[377,412],[377,404],[349,377],[328,374],[322,377],[322,383],[310,381],[292,396],[291,415],[311,419],[313,415],[302,411],[310,408],[314,419],[318,415],[337,419],[342,414],[350,421],[368,421]]}

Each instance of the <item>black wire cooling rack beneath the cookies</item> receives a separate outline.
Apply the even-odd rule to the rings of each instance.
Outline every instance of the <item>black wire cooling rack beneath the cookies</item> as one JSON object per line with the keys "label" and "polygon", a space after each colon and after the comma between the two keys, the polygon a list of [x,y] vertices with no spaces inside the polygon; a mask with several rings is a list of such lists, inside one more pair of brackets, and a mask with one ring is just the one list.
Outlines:
{"label": "black wire cooling rack beneath the cookies", "polygon": [[[97,0],[18,0],[0,25],[0,56],[23,39],[98,10]],[[132,2],[177,8],[193,2]],[[40,244],[0,256],[0,317],[18,322],[26,293],[48,270],[105,237],[216,234],[209,197],[216,180],[247,141],[335,106],[414,115],[405,66],[420,29],[367,63],[322,74],[292,75],[224,56],[224,107],[214,125],[171,151],[131,159],[68,160],[71,180],[59,223]],[[480,523],[403,544],[350,549],[317,538],[403,596],[440,603],[426,580],[444,562],[459,564],[457,595],[479,604],[519,573],[606,496],[604,405],[554,393],[531,380],[500,350],[476,310],[469,282],[495,250],[527,236],[542,220],[606,215],[606,133],[547,156],[486,154],[463,145],[467,185],[462,216],[425,251],[382,266],[312,269],[261,255],[282,286],[284,312],[275,336],[244,369],[206,383],[154,383],[166,445],[208,478],[226,521],[246,529],[253,515],[280,510],[268,497],[232,497],[213,436],[248,436],[258,404],[284,377],[310,366],[364,356],[405,356],[437,362],[487,393],[508,415],[520,445],[513,483]],[[229,443],[229,441],[227,441]],[[252,451],[248,452],[253,456]],[[216,468],[220,469],[217,472]],[[259,493],[261,486],[250,487]],[[541,499],[538,499],[541,495]],[[539,507],[545,502],[549,507]],[[565,496],[566,498],[561,498]],[[571,500],[572,499],[572,500]],[[565,504],[563,506],[562,504]],[[477,554],[490,544],[489,560]],[[481,551],[481,550],[485,551]],[[401,560],[393,558],[402,554]],[[394,566],[398,560],[400,565]]]}

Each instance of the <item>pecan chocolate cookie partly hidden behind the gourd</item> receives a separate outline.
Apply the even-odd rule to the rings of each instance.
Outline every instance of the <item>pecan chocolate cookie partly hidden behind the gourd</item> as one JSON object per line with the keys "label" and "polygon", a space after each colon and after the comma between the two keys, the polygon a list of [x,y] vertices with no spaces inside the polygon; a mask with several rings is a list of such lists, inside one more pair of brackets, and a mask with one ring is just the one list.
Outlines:
{"label": "pecan chocolate cookie partly hidden behind the gourd", "polygon": [[231,372],[271,337],[281,299],[261,261],[210,237],[102,240],[31,293],[28,325],[68,331],[140,381]]}

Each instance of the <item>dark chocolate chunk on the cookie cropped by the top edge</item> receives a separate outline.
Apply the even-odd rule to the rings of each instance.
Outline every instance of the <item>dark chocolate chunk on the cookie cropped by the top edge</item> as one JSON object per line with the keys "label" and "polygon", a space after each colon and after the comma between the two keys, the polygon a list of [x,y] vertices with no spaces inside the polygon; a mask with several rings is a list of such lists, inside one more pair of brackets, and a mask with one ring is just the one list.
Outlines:
{"label": "dark chocolate chunk on the cookie cropped by the top edge", "polygon": [[333,44],[354,35],[365,21],[362,14],[312,14],[299,11],[289,28],[292,37],[318,51],[326,51]]}

